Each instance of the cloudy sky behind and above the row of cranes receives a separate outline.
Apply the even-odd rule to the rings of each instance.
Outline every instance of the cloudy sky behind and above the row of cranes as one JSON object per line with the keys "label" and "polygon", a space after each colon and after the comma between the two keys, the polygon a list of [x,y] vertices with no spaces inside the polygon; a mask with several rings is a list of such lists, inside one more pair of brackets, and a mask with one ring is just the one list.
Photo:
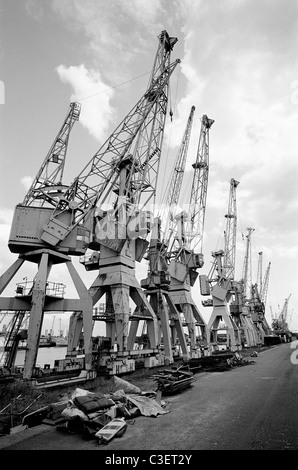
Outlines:
{"label": "cloudy sky behind and above the row of cranes", "polygon": [[[201,274],[223,248],[231,178],[237,187],[235,279],[242,277],[247,229],[252,280],[259,252],[271,263],[266,318],[289,299],[298,331],[298,4],[296,0],[0,0],[0,275],[17,258],[8,248],[22,202],[71,101],[82,105],[66,159],[70,184],[146,90],[158,36],[177,37],[160,187],[167,182],[191,106],[195,118],[185,171],[191,181],[204,114],[210,166]],[[162,196],[162,195],[160,195]],[[184,202],[187,202],[187,194]],[[137,265],[138,280],[146,274]],[[74,259],[87,287],[95,278]],[[14,295],[35,267],[22,267],[3,295]],[[74,296],[63,267],[55,276]],[[66,271],[66,268],[65,268]],[[58,276],[58,277],[57,277]],[[192,295],[206,322],[198,282]],[[47,323],[46,323],[47,322]],[[66,315],[62,316],[63,327]],[[49,327],[52,319],[45,318]],[[58,318],[56,322],[58,329]]]}

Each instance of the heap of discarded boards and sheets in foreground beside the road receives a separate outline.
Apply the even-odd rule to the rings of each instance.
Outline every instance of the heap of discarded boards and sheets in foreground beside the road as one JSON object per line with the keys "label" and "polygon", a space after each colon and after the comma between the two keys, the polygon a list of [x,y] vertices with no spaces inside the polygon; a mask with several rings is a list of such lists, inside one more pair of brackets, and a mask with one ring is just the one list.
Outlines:
{"label": "heap of discarded boards and sheets in foreground beside the road", "polygon": [[97,438],[99,444],[108,444],[126,431],[127,423],[134,424],[137,416],[158,416],[165,410],[165,402],[156,400],[157,392],[142,392],[139,387],[113,376],[108,394],[93,393],[77,388],[61,412],[63,425],[58,430],[83,433]]}

